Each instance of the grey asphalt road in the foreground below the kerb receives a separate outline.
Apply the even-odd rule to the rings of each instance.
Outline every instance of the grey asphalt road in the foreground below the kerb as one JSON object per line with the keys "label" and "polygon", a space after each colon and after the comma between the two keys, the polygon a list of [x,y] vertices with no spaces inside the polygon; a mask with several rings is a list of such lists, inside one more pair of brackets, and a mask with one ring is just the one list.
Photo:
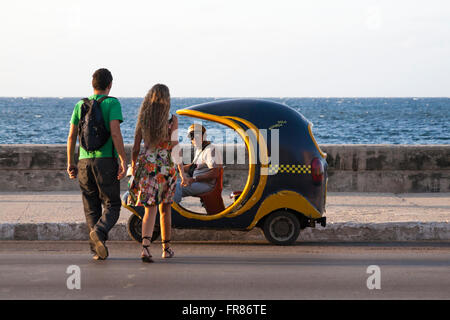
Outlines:
{"label": "grey asphalt road in the foreground below the kerb", "polygon": [[94,261],[87,242],[2,241],[0,299],[450,299],[449,242],[179,242],[170,260],[153,244],[152,264],[108,247]]}

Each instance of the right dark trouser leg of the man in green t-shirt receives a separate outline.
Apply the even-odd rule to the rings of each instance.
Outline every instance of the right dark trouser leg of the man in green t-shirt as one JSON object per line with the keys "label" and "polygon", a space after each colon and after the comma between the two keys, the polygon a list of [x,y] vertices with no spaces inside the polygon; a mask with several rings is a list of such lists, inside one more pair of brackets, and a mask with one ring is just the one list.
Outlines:
{"label": "right dark trouser leg of the man in green t-shirt", "polygon": [[119,165],[116,159],[98,158],[94,162],[94,172],[103,202],[103,214],[94,230],[102,241],[108,240],[108,233],[114,227],[120,215],[120,181],[117,180]]}

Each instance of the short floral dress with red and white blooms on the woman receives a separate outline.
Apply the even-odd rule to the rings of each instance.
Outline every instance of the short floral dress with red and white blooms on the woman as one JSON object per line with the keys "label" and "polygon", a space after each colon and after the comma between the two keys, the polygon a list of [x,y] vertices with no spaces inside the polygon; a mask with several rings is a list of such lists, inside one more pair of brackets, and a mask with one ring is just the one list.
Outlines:
{"label": "short floral dress with red and white blooms on the woman", "polygon": [[[171,119],[169,130],[172,123]],[[141,148],[134,175],[128,182],[127,205],[146,207],[173,202],[177,169],[171,150],[171,141],[149,149]]]}

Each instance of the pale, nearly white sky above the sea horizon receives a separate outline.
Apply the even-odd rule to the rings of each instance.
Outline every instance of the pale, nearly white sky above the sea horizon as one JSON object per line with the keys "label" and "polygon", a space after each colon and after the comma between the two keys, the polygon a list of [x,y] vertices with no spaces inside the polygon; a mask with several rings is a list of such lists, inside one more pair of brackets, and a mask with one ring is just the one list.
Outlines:
{"label": "pale, nearly white sky above the sea horizon", "polygon": [[448,0],[0,2],[0,96],[449,97]]}

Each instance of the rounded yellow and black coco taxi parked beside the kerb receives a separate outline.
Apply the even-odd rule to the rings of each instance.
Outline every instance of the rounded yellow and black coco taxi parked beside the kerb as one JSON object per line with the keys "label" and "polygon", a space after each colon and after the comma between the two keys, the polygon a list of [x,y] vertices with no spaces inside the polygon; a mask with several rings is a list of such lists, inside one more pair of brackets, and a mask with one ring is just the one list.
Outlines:
{"label": "rounded yellow and black coco taxi parked beside the kerb", "polygon": [[[216,206],[211,196],[204,198],[214,207],[212,214],[211,210],[197,214],[173,203],[173,228],[248,231],[258,227],[269,242],[289,245],[301,229],[326,225],[326,154],[314,139],[312,123],[302,114],[280,103],[252,99],[203,103],[177,113],[234,129],[245,142],[249,170],[245,187],[227,208],[220,193]],[[144,208],[127,206],[127,196],[123,195],[122,205],[133,213],[128,232],[140,242]],[[153,239],[158,236],[156,226]]]}

